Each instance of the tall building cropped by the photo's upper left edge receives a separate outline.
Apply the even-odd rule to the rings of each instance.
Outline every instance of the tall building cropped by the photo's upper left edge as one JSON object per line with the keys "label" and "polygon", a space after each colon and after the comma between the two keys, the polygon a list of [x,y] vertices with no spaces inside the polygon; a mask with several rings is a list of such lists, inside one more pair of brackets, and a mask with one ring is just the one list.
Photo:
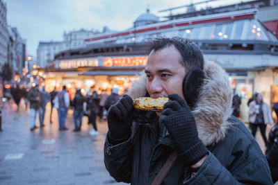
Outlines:
{"label": "tall building cropped by the photo's upper left edge", "polygon": [[8,62],[8,29],[7,29],[7,6],[0,1],[0,67]]}

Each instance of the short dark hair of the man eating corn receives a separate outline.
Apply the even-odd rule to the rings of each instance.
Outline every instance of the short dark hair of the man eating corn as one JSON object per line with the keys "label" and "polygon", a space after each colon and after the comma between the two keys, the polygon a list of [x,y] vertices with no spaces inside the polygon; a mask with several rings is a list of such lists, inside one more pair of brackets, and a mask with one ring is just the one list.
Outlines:
{"label": "short dark hair of the man eating corn", "polygon": [[204,56],[199,46],[189,39],[183,39],[181,37],[172,38],[155,38],[147,43],[147,51],[151,53],[156,52],[166,47],[174,46],[181,54],[182,61],[181,65],[189,71],[193,67],[203,69],[204,67]]}

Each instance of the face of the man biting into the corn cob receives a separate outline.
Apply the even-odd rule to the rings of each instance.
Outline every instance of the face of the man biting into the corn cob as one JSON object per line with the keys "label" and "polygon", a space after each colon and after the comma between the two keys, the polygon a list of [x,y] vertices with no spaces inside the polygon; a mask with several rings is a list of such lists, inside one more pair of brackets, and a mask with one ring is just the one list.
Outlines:
{"label": "face of the man biting into the corn cob", "polygon": [[[151,52],[147,60],[147,91],[152,98],[178,94],[183,99],[182,83],[186,75],[181,54],[174,46]],[[161,112],[156,112],[158,116]]]}

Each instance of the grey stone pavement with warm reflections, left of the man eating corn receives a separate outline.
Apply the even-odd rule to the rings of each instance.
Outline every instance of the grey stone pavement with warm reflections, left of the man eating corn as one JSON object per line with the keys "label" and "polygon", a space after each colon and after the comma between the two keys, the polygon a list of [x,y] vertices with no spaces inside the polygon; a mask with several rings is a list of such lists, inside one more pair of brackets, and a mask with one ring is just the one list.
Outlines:
{"label": "grey stone pavement with warm reflections, left of the man eating corn", "polygon": [[[69,111],[67,131],[58,131],[58,115],[49,123],[50,105],[44,128],[30,131],[30,112],[15,105],[3,109],[0,132],[0,184],[117,184],[104,166],[103,147],[107,123],[98,121],[98,136],[90,136],[92,125],[84,116],[81,132],[72,132]],[[37,119],[36,125],[39,126]],[[124,183],[118,183],[124,184]]]}

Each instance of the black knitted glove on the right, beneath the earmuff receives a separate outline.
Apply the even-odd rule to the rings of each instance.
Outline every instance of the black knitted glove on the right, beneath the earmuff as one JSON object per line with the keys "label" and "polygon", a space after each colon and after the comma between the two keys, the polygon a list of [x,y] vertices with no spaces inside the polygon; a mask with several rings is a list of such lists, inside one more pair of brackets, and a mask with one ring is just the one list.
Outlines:
{"label": "black knitted glove on the right, beneath the earmuff", "polygon": [[198,137],[195,118],[187,103],[177,94],[168,96],[159,121],[167,128],[177,155],[191,166],[202,159],[208,150]]}

